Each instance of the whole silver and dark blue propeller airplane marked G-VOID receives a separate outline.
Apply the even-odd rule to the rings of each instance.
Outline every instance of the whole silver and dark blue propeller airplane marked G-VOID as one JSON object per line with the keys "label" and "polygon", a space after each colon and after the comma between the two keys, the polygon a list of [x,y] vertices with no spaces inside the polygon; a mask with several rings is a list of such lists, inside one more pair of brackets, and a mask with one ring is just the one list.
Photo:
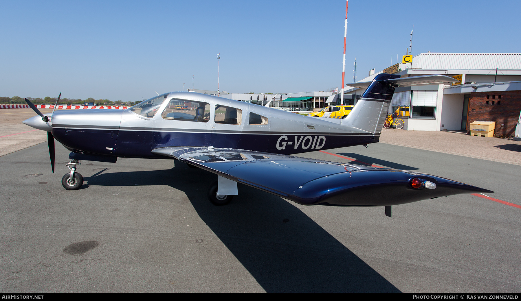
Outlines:
{"label": "whole silver and dark blue propeller airplane marked G-VOID", "polygon": [[[434,75],[378,74],[344,119],[297,115],[193,92],[157,95],[126,110],[60,110],[23,121],[71,151],[62,184],[79,189],[79,160],[172,158],[218,175],[208,198],[225,205],[243,183],[303,205],[391,206],[492,191],[433,175],[291,156],[379,141],[395,87],[454,82]],[[61,95],[61,94],[60,94]],[[59,97],[58,97],[59,99]]]}

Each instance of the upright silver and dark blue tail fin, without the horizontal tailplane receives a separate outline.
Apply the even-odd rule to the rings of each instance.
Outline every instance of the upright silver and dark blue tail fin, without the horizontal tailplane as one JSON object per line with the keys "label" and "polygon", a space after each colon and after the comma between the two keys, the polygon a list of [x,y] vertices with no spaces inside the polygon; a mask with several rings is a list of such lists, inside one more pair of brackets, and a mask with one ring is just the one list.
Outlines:
{"label": "upright silver and dark blue tail fin, without the horizontal tailplane", "polygon": [[348,117],[342,119],[342,124],[373,134],[380,133],[387,117],[394,89],[397,86],[387,80],[396,78],[400,78],[400,76],[378,74]]}

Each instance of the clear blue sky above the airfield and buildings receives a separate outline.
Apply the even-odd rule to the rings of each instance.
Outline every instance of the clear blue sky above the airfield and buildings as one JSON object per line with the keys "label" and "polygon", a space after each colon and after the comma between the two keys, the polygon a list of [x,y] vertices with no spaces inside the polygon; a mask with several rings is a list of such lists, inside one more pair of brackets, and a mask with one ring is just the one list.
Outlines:
{"label": "clear blue sky above the airfield and buildings", "polygon": [[[345,1],[0,2],[0,96],[137,101],[154,91],[340,86]],[[346,83],[405,54],[520,53],[519,1],[349,2]]]}

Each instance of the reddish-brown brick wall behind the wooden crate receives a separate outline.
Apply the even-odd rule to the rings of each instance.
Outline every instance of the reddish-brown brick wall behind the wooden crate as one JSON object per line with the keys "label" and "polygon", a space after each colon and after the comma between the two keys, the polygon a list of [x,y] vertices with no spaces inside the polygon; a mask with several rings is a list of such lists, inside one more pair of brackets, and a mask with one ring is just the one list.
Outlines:
{"label": "reddish-brown brick wall behind the wooden crate", "polygon": [[[495,121],[494,133],[510,137],[514,135],[519,111],[521,111],[521,91],[470,93],[467,131],[470,123],[476,120]],[[503,128],[501,128],[502,123]]]}

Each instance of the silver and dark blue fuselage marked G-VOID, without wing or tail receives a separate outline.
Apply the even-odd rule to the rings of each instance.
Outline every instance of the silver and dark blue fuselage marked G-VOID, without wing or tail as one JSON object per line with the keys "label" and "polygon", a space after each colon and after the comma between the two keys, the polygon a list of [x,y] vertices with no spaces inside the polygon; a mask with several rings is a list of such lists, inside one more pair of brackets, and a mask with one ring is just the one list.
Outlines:
{"label": "silver and dark blue fuselage marked G-VOID, without wing or tail", "polygon": [[126,110],[62,110],[52,134],[73,152],[157,158],[152,149],[214,146],[296,154],[378,142],[343,120],[307,117],[192,92],[158,95]]}

